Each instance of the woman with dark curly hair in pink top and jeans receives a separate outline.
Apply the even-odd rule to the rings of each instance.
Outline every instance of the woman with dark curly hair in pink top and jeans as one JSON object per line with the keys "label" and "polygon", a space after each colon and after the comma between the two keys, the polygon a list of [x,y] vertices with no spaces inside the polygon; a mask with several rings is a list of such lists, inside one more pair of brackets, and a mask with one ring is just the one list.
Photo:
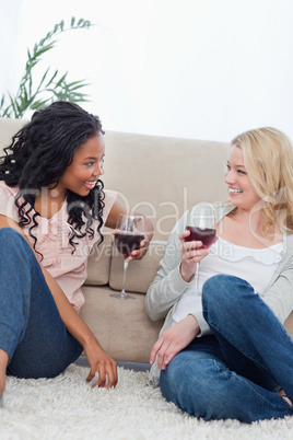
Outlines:
{"label": "woman with dark curly hair in pink top and jeans", "polygon": [[[36,112],[0,160],[0,397],[5,374],[51,378],[84,350],[95,385],[115,386],[116,362],[79,316],[81,286],[105,224],[125,213],[104,192],[101,120],[69,102]],[[139,251],[152,238],[152,224]]]}

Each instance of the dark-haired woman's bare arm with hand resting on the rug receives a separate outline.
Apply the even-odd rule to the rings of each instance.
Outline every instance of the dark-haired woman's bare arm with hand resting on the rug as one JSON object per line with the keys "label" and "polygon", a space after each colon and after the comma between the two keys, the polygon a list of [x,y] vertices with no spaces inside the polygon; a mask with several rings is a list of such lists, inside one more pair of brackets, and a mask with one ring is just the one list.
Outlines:
{"label": "dark-haired woman's bare arm with hand resting on the rug", "polygon": [[[14,220],[0,215],[0,228],[13,228],[22,234],[22,236],[28,242],[23,230],[19,227],[17,222]],[[32,246],[31,246],[32,247]],[[34,250],[33,250],[34,252]],[[98,381],[93,386],[107,386],[107,389],[115,386],[117,384],[117,366],[116,362],[106,354],[106,351],[101,347],[98,340],[87,327],[85,322],[74,311],[66,294],[56,282],[56,280],[49,275],[49,273],[42,266],[42,271],[46,279],[46,282],[50,289],[54,297],[56,305],[58,308],[59,314],[62,322],[66,325],[68,332],[79,340],[82,345],[85,356],[90,363],[90,374],[86,381],[90,382],[95,373],[98,371]],[[106,380],[108,383],[106,384]]]}

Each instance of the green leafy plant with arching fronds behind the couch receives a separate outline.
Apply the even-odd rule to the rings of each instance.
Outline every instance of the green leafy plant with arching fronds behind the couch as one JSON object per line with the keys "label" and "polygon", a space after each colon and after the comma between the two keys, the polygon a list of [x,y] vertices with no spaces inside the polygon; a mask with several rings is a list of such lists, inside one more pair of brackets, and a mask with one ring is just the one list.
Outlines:
{"label": "green leafy plant with arching fronds behind the couch", "polygon": [[[54,101],[71,101],[71,102],[86,102],[86,94],[82,89],[87,84],[84,80],[68,82],[67,74],[60,74],[58,69],[50,72],[48,67],[38,84],[34,83],[34,68],[40,62],[42,57],[48,50],[51,50],[56,43],[56,36],[60,33],[71,31],[90,28],[92,26],[89,20],[75,20],[73,16],[70,25],[66,27],[65,21],[57,23],[54,28],[47,33],[38,43],[34,45],[33,50],[27,49],[27,61],[25,65],[24,73],[21,78],[20,85],[15,95],[3,93],[0,101],[0,117],[8,118],[23,118],[25,112],[28,109],[37,111],[50,104]],[[7,104],[7,101],[9,103]]]}

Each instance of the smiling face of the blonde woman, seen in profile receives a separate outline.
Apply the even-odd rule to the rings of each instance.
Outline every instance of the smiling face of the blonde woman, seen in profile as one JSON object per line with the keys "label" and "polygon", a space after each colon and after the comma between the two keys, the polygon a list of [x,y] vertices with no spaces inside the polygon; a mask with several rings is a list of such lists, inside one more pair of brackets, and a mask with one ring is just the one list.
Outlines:
{"label": "smiling face of the blonde woman, seen in profile", "polygon": [[237,208],[250,211],[261,200],[247,175],[243,151],[235,144],[230,149],[225,183],[228,186],[228,202]]}

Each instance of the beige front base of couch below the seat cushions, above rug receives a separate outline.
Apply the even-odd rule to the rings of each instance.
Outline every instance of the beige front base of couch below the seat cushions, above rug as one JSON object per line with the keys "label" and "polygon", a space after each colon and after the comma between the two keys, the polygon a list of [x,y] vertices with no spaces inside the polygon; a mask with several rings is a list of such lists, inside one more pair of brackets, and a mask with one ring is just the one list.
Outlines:
{"label": "beige front base of couch below the seat cushions, above rug", "polygon": [[164,320],[150,320],[144,294],[133,293],[134,301],[124,301],[112,298],[108,287],[83,286],[82,290],[81,317],[107,354],[115,360],[149,362]]}

